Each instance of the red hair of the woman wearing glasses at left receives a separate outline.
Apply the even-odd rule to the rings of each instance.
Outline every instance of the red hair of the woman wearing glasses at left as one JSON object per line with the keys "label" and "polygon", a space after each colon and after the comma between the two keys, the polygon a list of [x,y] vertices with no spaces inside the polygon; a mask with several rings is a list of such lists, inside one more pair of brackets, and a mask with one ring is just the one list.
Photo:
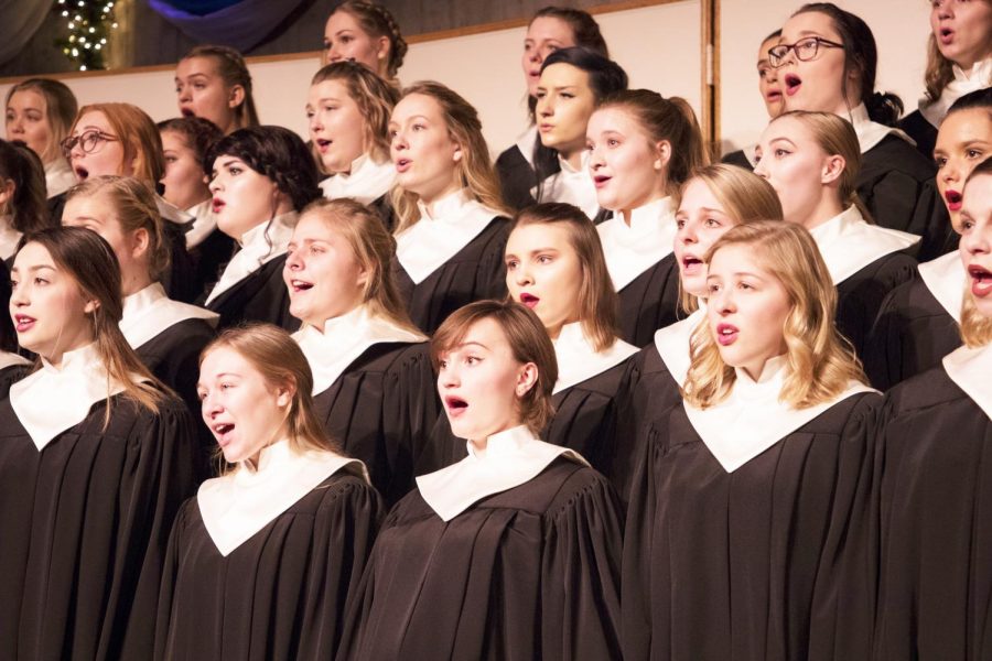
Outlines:
{"label": "red hair of the woman wearing glasses at left", "polygon": [[131,104],[90,104],[79,108],[69,133],[87,112],[103,112],[110,129],[123,148],[123,163],[137,159],[134,178],[154,191],[165,174],[165,156],[162,153],[162,137],[155,122],[144,110]]}

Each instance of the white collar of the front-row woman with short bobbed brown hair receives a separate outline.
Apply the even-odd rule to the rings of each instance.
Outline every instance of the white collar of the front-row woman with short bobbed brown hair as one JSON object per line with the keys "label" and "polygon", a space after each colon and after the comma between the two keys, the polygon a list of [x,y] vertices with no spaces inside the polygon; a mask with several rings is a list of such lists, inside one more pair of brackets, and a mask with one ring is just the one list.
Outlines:
{"label": "white collar of the front-row woman with short bobbed brown hair", "polygon": [[467,457],[421,475],[417,487],[430,508],[451,521],[483,498],[530,481],[560,456],[589,466],[575,451],[544,443],[520,425],[489,436],[482,457],[470,441]]}

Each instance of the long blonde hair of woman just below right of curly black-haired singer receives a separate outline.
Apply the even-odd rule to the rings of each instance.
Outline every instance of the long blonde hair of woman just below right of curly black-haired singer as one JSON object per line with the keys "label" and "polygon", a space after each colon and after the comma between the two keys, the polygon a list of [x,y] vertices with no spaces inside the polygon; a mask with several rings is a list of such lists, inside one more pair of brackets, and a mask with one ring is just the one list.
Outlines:
{"label": "long blonde hair of woman just below right of curly black-haired singer", "polygon": [[397,290],[390,263],[396,252],[396,239],[386,229],[379,214],[371,208],[342,197],[312,202],[300,215],[315,216],[324,225],[338,232],[355,254],[355,259],[368,273],[362,302],[368,305],[375,316],[389,319],[393,324],[421,335],[410,321],[407,307]]}

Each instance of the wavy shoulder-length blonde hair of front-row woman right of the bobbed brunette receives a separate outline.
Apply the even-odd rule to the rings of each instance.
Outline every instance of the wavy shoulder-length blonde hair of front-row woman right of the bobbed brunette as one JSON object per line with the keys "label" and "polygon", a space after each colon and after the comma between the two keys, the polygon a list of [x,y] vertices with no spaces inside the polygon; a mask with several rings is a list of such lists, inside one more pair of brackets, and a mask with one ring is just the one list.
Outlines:
{"label": "wavy shoulder-length blonde hair of front-row woman right of the bobbed brunette", "polygon": [[[865,383],[851,344],[834,326],[837,289],[809,231],[768,220],[738,225],[713,243],[707,263],[730,246],[746,246],[789,297],[783,326],[788,371],[779,401],[807,409],[838,397],[851,381]],[[692,333],[690,355],[682,395],[699,409],[719,404],[733,390],[736,372],[723,361],[709,323]]]}

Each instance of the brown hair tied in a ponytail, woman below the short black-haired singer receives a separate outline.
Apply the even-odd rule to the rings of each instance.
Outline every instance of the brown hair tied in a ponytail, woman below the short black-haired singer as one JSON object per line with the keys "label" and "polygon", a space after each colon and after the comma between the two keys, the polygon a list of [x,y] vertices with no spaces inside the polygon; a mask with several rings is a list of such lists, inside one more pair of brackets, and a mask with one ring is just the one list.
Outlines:
{"label": "brown hair tied in a ponytail, woman below the short black-haired singer", "polygon": [[603,99],[596,109],[602,108],[625,110],[653,144],[665,140],[671,144],[671,158],[665,172],[669,195],[678,195],[679,186],[689,178],[689,173],[709,163],[696,112],[686,99],[666,99],[649,89],[625,89]]}

